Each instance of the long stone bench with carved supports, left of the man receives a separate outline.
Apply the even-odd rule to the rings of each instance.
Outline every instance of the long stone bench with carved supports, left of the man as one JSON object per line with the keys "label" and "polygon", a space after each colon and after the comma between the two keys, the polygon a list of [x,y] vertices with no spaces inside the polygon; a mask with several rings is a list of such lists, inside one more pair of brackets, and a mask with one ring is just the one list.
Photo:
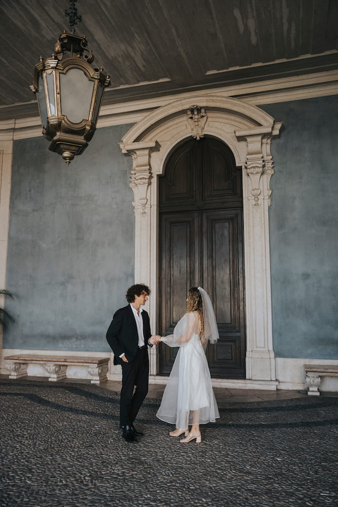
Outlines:
{"label": "long stone bench with carved supports, left of the man", "polygon": [[27,375],[28,365],[42,365],[48,373],[48,380],[57,381],[67,377],[68,366],[81,366],[91,378],[92,384],[107,380],[109,357],[75,357],[36,354],[18,354],[4,357],[6,368],[11,372],[10,379]]}

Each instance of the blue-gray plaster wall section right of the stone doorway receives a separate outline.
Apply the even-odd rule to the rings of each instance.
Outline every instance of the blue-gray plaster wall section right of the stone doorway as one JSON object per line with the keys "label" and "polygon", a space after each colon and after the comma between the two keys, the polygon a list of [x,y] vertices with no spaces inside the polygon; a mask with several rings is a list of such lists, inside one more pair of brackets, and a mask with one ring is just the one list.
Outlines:
{"label": "blue-gray plaster wall section right of the stone doorway", "polygon": [[270,250],[277,357],[338,358],[338,97],[260,106],[272,143]]}

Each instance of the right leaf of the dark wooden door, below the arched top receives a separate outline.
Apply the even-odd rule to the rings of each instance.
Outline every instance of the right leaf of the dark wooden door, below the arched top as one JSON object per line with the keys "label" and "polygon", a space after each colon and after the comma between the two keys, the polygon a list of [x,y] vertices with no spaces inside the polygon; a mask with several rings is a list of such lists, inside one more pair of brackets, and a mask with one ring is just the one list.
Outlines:
{"label": "right leaf of the dark wooden door, below the arched top", "polygon": [[211,374],[244,374],[245,336],[242,210],[203,213],[204,287],[213,303],[219,341],[207,350]]}

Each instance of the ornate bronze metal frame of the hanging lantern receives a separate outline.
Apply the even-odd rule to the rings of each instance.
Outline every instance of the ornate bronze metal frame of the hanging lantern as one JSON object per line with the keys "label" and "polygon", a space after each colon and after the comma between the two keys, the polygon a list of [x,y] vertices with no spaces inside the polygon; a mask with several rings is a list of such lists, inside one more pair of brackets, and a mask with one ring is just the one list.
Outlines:
{"label": "ornate bronze metal frame of the hanging lantern", "polygon": [[[55,52],[51,58],[44,60],[41,56],[40,63],[35,65],[33,83],[30,86],[31,91],[36,94],[43,127],[42,133],[51,141],[49,149],[60,154],[67,165],[75,155],[83,153],[93,137],[103,92],[110,85],[109,75],[103,71],[103,68],[94,68],[90,65],[94,60],[94,55],[87,48],[87,44],[85,36],[79,37],[64,30],[55,44]],[[66,52],[69,52],[70,56],[64,59]],[[63,92],[65,85],[62,85],[60,77],[65,76],[71,69],[82,71],[87,80],[93,82],[90,104],[88,104],[89,113],[78,123],[68,118],[71,115],[68,113],[67,116],[62,105],[62,96],[65,97],[66,92]],[[44,96],[40,80],[42,80]],[[74,103],[78,99],[76,92],[77,90],[68,90],[68,95],[73,96]],[[47,117],[42,111],[44,106],[46,106]]]}

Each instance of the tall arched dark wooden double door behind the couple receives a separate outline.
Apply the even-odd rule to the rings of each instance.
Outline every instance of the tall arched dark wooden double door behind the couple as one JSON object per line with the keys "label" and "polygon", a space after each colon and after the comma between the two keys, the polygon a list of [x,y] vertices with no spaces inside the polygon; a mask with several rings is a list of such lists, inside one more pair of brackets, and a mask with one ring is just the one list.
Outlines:
{"label": "tall arched dark wooden double door behind the couple", "polygon": [[[242,170],[212,137],[181,144],[159,176],[159,322],[173,332],[192,286],[213,303],[219,341],[208,345],[212,377],[245,378]],[[160,344],[160,375],[177,349]]]}

